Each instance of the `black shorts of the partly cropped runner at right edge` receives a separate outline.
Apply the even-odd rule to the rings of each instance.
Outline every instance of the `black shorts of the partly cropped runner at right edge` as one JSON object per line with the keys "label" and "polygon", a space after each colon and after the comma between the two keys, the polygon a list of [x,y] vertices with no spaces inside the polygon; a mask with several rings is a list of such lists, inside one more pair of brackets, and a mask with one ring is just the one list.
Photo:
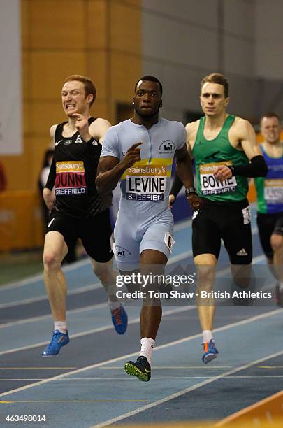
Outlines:
{"label": "black shorts of the partly cropped runner at right edge", "polygon": [[272,259],[273,249],[270,245],[270,237],[273,233],[283,235],[283,213],[257,213],[256,222],[263,251],[268,259]]}

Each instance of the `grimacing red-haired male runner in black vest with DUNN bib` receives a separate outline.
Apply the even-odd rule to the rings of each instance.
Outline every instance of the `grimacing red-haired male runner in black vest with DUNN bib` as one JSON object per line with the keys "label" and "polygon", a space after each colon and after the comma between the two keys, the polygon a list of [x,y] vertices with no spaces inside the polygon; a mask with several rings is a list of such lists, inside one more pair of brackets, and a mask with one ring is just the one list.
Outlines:
{"label": "grimacing red-haired male runner in black vest with DUNN bib", "polygon": [[95,97],[96,88],[89,78],[80,75],[66,78],[61,99],[68,121],[50,128],[55,155],[43,189],[45,203],[52,210],[46,230],[43,264],[54,332],[50,345],[43,350],[43,357],[57,355],[61,346],[69,342],[66,279],[61,262],[78,238],[91,259],[94,273],[108,290],[115,330],[119,334],[126,331],[126,312],[110,290],[115,285],[110,246],[111,194],[102,199],[95,186],[101,143],[110,127],[107,120],[90,116]]}

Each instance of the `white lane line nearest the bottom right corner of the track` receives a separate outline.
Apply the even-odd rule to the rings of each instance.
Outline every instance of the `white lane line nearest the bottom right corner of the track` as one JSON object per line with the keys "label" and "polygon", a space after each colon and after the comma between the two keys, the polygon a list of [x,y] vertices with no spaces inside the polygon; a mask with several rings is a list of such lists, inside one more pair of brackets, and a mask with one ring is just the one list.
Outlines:
{"label": "white lane line nearest the bottom right corner of the track", "polygon": [[[124,415],[119,415],[119,416],[116,416],[115,418],[108,419],[105,422],[102,422],[100,424],[93,425],[91,428],[102,428],[102,427],[106,427],[106,425],[115,424],[115,422],[118,422],[118,421],[126,419],[126,418],[130,418],[131,416],[136,415],[137,413],[141,413],[143,411],[147,411],[149,408],[159,406],[159,404],[167,403],[170,400],[173,400],[173,399],[175,399],[177,397],[180,397],[180,396],[182,396],[184,394],[187,394],[187,392],[198,390],[198,388],[203,387],[204,385],[208,385],[209,383],[215,382],[215,380],[219,380],[219,379],[223,379],[223,378],[225,378],[227,376],[231,376],[231,375],[233,375],[233,373],[237,373],[237,371],[249,369],[249,367],[254,366],[254,364],[259,364],[260,362],[266,361],[267,359],[270,359],[270,358],[278,357],[279,355],[283,355],[283,351],[275,352],[275,354],[270,354],[270,355],[268,355],[266,357],[263,357],[261,359],[256,359],[256,360],[254,360],[252,362],[249,362],[249,364],[245,364],[245,365],[237,367],[237,368],[235,368],[233,370],[226,371],[225,373],[222,373],[222,374],[220,374],[218,376],[215,376],[214,378],[204,380],[203,382],[197,383],[196,385],[193,385],[193,386],[191,386],[189,388],[186,388],[185,390],[182,390],[182,391],[179,391],[179,392],[175,392],[175,394],[170,394],[167,397],[164,397],[163,399],[159,399],[157,401],[154,401],[154,403],[147,404],[147,405],[145,405],[143,407],[137,408],[134,411],[130,411],[128,413],[124,413]],[[1,394],[0,394],[0,396],[1,396]]]}

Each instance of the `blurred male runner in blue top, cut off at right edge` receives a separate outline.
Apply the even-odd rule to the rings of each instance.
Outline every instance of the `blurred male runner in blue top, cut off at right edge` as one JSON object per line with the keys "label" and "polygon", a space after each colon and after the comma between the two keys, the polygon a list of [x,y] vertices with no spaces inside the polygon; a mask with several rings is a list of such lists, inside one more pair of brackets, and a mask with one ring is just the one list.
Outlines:
{"label": "blurred male runner in blue top, cut off at right edge", "polygon": [[254,179],[257,192],[257,225],[268,266],[279,283],[275,288],[277,304],[283,306],[283,142],[280,141],[280,117],[266,113],[261,117],[260,145],[268,173]]}

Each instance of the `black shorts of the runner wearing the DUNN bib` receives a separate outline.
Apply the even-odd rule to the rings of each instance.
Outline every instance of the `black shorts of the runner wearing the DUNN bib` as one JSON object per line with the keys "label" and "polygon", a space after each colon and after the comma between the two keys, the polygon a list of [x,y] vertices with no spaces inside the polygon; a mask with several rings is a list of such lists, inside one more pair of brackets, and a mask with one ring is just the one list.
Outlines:
{"label": "black shorts of the runner wearing the DUNN bib", "polygon": [[53,210],[46,227],[46,233],[49,231],[62,234],[68,248],[80,238],[87,254],[96,262],[106,263],[113,257],[109,209],[87,218],[71,217]]}

